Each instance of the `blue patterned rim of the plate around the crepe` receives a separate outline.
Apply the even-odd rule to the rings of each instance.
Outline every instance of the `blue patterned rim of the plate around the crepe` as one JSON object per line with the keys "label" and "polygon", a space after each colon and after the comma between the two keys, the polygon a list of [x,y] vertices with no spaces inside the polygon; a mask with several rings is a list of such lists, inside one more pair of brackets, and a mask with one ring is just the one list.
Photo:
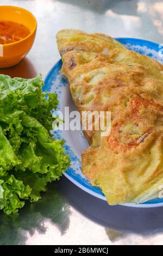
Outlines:
{"label": "blue patterned rim of the plate around the crepe", "polygon": [[[163,63],[163,59],[158,56],[158,52],[163,52],[163,47],[160,47],[159,44],[156,44],[155,42],[142,40],[142,39],[136,39],[136,38],[115,38],[121,44],[123,44],[125,47],[127,47],[129,50],[133,50],[135,52],[139,52],[141,54],[145,54],[148,57],[152,57],[156,60],[159,60],[161,63]],[[45,86],[42,88],[44,92],[51,92],[51,88],[55,82],[56,77],[60,74],[62,66],[61,59],[53,66],[53,68],[48,72],[46,78],[45,78]],[[64,83],[67,83],[67,80],[65,77],[61,78],[61,83],[57,87],[57,93],[59,94],[59,97],[61,96],[61,90],[64,89]],[[57,139],[62,139],[61,132],[59,130],[53,131],[53,135]],[[92,196],[95,196],[97,198],[106,200],[104,194],[102,193],[101,189],[98,187],[93,187],[90,182],[84,178],[81,171],[81,161],[78,159],[76,154],[71,149],[70,145],[68,145],[67,141],[65,142],[65,153],[70,155],[71,159],[71,167],[69,167],[66,172],[64,172],[64,175],[73,182],[73,184],[77,185],[79,188],[84,190],[87,193],[92,194]],[[78,163],[78,167],[76,167],[76,164]],[[74,168],[75,166],[75,168]],[[78,169],[78,172],[76,172],[76,168]],[[79,169],[81,174],[79,173]],[[135,207],[135,208],[155,208],[163,206],[163,199],[155,198],[152,200],[149,200],[148,202],[141,203],[141,204],[134,204],[134,203],[128,203],[128,204],[121,204],[123,206],[128,207]]]}

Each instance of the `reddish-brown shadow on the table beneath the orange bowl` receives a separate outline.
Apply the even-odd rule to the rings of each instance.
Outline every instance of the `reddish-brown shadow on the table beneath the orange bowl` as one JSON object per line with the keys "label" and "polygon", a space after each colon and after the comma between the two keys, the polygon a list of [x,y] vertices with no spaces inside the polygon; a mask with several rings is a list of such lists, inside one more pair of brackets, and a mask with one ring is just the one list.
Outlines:
{"label": "reddish-brown shadow on the table beneath the orange bowl", "polygon": [[0,74],[22,78],[33,78],[39,75],[33,63],[27,57],[11,68],[0,69]]}

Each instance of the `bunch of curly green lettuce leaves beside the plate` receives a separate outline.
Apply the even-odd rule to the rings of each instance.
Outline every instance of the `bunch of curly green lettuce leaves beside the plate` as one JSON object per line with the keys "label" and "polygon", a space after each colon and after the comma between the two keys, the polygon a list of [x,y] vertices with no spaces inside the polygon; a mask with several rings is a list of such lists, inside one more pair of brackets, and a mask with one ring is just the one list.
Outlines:
{"label": "bunch of curly green lettuce leaves beside the plate", "polygon": [[57,94],[43,93],[42,86],[41,75],[0,75],[0,210],[8,215],[22,208],[24,200],[39,200],[47,183],[70,166],[64,141],[49,132]]}

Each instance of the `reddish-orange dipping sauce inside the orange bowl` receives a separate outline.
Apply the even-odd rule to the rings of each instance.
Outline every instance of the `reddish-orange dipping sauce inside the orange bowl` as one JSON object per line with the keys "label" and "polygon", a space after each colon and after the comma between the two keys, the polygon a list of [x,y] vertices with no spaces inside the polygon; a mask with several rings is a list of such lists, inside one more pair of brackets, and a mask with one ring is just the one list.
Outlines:
{"label": "reddish-orange dipping sauce inside the orange bowl", "polygon": [[18,22],[0,21],[0,44],[20,41],[30,34],[30,30]]}

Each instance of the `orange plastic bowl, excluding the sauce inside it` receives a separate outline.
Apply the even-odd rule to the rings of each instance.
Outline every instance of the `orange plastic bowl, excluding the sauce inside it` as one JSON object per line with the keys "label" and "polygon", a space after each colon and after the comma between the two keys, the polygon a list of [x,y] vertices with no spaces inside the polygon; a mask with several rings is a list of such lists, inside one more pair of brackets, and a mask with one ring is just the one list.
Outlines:
{"label": "orange plastic bowl, excluding the sauce inside it", "polygon": [[30,34],[20,41],[0,45],[0,68],[9,68],[21,62],[33,45],[37,22],[30,11],[10,6],[0,5],[1,21],[14,21],[21,23],[30,30]]}

